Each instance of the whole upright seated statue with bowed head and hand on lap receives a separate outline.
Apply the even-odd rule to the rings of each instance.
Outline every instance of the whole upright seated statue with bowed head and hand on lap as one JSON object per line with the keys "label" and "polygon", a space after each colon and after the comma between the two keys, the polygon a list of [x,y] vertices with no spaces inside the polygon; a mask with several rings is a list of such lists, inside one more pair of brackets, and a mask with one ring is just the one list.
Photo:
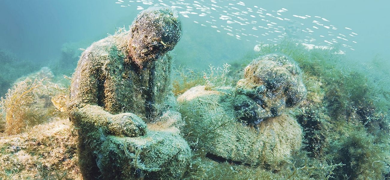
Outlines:
{"label": "whole upright seated statue with bowed head and hand on lap", "polygon": [[151,7],[129,31],[94,42],[71,83],[84,179],[178,179],[191,157],[174,124],[167,51],[181,37],[177,13]]}

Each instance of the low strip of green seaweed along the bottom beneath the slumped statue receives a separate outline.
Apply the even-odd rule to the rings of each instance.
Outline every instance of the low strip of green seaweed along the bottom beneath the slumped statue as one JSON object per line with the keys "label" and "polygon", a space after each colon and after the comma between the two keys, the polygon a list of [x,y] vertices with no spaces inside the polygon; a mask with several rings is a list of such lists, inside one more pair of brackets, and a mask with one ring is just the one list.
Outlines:
{"label": "low strip of green seaweed along the bottom beneath the slumped statue", "polygon": [[294,155],[294,161],[279,171],[268,171],[257,166],[234,164],[228,161],[216,162],[197,151],[193,155],[190,168],[184,180],[190,179],[233,179],[233,180],[329,180],[334,178],[335,170],[343,167],[340,163],[324,163],[308,158],[301,152]]}

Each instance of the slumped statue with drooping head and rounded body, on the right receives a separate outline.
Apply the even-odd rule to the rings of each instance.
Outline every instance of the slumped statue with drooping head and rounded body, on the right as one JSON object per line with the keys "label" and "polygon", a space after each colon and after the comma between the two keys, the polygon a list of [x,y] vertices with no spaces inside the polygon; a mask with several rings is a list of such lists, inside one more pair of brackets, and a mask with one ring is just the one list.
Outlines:
{"label": "slumped statue with drooping head and rounded body, on the right", "polygon": [[177,98],[184,133],[207,157],[278,169],[299,150],[302,130],[284,109],[307,94],[302,72],[284,55],[261,56],[245,68],[235,88],[195,86]]}

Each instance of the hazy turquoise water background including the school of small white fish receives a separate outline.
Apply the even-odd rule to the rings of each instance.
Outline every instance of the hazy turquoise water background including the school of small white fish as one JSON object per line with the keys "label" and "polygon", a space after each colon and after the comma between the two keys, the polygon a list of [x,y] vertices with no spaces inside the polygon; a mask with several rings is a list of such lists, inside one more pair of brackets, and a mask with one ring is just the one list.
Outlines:
{"label": "hazy turquoise water background including the school of small white fish", "polygon": [[[204,69],[253,52],[259,43],[285,37],[315,45],[337,44],[350,60],[390,57],[388,2],[352,0],[136,0],[2,1],[0,48],[45,64],[58,59],[65,43],[86,48],[128,27],[151,5],[180,12],[183,37],[176,64]],[[191,10],[192,9],[192,10]],[[73,68],[73,67],[72,67]]]}

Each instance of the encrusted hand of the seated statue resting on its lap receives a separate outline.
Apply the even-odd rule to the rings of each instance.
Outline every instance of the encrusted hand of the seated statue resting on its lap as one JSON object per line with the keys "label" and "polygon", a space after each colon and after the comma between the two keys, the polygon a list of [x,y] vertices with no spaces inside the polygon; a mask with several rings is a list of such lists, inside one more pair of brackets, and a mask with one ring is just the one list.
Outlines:
{"label": "encrusted hand of the seated statue resting on its lap", "polygon": [[146,124],[133,113],[121,113],[112,116],[109,131],[116,136],[138,137],[146,133]]}

